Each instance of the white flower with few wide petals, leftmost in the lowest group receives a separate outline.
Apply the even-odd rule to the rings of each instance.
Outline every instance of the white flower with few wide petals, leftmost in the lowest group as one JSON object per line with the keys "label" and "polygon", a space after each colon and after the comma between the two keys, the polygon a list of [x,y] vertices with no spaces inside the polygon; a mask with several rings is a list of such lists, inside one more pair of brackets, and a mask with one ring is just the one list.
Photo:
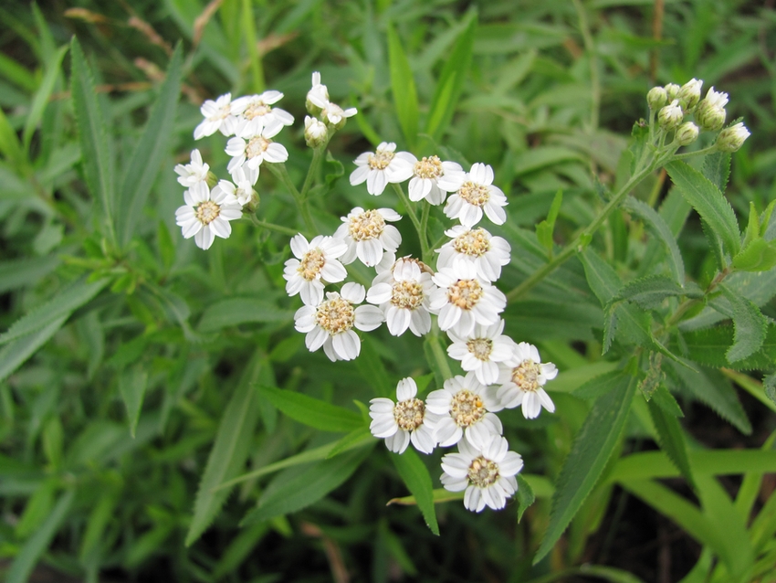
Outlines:
{"label": "white flower with few wide petals, leftmost in the lowest group", "polygon": [[436,416],[425,408],[425,403],[416,398],[417,385],[409,376],[396,385],[396,400],[373,398],[369,403],[372,423],[369,429],[376,438],[385,440],[385,447],[394,453],[404,453],[412,441],[415,450],[434,451],[434,424]]}

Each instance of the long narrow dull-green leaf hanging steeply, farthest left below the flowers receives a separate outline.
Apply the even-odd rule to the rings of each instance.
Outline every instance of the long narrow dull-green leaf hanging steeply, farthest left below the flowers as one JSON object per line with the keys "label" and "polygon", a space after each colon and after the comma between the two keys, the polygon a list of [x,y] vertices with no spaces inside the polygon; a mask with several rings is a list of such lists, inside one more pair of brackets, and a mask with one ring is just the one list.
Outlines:
{"label": "long narrow dull-green leaf hanging steeply, farthest left below the flowers", "polygon": [[258,419],[257,390],[254,383],[265,363],[255,355],[246,366],[235,394],[229,400],[218,424],[215,443],[204,468],[194,501],[194,517],[186,534],[185,546],[192,546],[221,510],[230,488],[215,490],[234,478],[245,465],[251,451],[253,431]]}

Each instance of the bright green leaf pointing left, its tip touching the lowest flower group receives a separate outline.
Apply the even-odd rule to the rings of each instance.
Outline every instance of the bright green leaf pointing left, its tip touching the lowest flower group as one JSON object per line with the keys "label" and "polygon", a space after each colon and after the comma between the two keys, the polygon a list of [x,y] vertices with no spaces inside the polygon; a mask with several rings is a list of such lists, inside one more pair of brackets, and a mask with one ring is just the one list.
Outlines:
{"label": "bright green leaf pointing left, its tip touching the lowest flower group", "polygon": [[282,388],[259,387],[259,390],[282,413],[309,427],[334,432],[363,427],[361,415],[350,409]]}

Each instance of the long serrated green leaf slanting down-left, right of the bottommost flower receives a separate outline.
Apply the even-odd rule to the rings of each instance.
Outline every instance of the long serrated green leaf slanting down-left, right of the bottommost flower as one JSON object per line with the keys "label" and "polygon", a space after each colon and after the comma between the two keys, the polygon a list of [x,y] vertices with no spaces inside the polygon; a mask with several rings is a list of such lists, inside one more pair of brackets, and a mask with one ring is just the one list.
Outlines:
{"label": "long serrated green leaf slanting down-left, right of the bottommost flower", "polygon": [[582,506],[620,440],[636,387],[635,378],[622,374],[617,387],[592,406],[563,462],[552,496],[550,525],[533,558],[536,565],[550,551]]}

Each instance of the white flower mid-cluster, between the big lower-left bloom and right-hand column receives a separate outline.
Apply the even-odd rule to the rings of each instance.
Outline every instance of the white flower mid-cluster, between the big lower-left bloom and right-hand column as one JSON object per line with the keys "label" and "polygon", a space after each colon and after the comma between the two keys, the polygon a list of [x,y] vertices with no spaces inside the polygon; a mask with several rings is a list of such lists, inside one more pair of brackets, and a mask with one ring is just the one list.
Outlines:
{"label": "white flower mid-cluster, between the big lower-left bloom and right-hand column", "polygon": [[416,336],[431,330],[428,305],[436,286],[431,281],[431,274],[421,266],[425,268],[420,261],[409,258],[396,261],[391,269],[374,278],[366,294],[367,302],[379,304],[388,332],[394,336],[404,334],[407,328]]}

